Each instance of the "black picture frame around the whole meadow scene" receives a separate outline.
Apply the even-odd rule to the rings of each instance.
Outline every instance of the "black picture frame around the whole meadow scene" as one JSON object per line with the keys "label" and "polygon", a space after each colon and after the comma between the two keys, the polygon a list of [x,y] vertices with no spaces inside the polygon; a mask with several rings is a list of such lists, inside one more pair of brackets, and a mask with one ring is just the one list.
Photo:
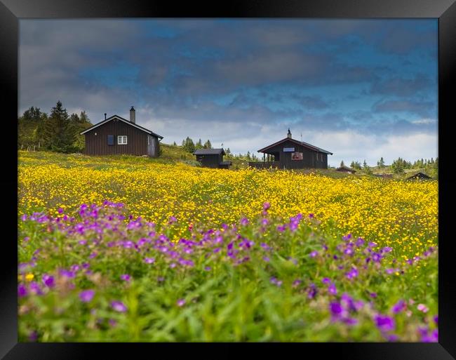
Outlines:
{"label": "black picture frame around the whole meadow scene", "polygon": [[[451,236],[452,199],[456,177],[452,171],[450,145],[451,122],[456,119],[456,4],[455,0],[236,0],[220,4],[212,1],[198,8],[194,1],[175,2],[140,0],[0,0],[0,94],[6,145],[0,183],[4,189],[1,236],[0,357],[3,359],[91,359],[124,358],[157,350],[174,356],[177,351],[196,350],[196,344],[95,344],[95,343],[18,343],[17,317],[17,232],[9,235],[17,223],[18,153],[18,30],[20,18],[438,18],[438,156],[439,156],[439,274],[438,343],[302,343],[252,344],[255,352],[288,352],[298,356],[329,355],[337,359],[455,359],[456,358],[456,281],[453,277],[455,239]],[[11,133],[11,134],[10,134]],[[5,201],[6,200],[6,201]],[[15,209],[15,210],[14,210]],[[218,356],[239,352],[236,344],[203,344],[215,347]],[[247,345],[239,345],[245,347]],[[134,349],[133,349],[134,347]],[[151,349],[153,350],[151,352]],[[184,347],[184,349],[182,349]],[[286,347],[286,349],[283,349]],[[132,351],[133,350],[133,351]],[[284,353],[285,351],[285,353]],[[195,352],[196,356],[201,353]],[[204,353],[203,353],[204,354]],[[301,355],[299,355],[301,354]],[[186,355],[187,356],[187,355]],[[258,356],[258,354],[256,355]],[[296,355],[293,355],[296,356]]]}

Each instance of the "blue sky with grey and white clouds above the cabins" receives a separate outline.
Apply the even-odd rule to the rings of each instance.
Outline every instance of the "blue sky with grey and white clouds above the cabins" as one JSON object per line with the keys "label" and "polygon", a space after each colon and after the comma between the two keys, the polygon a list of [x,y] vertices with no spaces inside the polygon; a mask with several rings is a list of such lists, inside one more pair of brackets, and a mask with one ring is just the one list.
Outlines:
{"label": "blue sky with grey and white clouds above the cabins", "polygon": [[133,105],[168,144],[257,154],[289,127],[333,166],[435,158],[437,40],[436,19],[20,20],[19,114]]}

